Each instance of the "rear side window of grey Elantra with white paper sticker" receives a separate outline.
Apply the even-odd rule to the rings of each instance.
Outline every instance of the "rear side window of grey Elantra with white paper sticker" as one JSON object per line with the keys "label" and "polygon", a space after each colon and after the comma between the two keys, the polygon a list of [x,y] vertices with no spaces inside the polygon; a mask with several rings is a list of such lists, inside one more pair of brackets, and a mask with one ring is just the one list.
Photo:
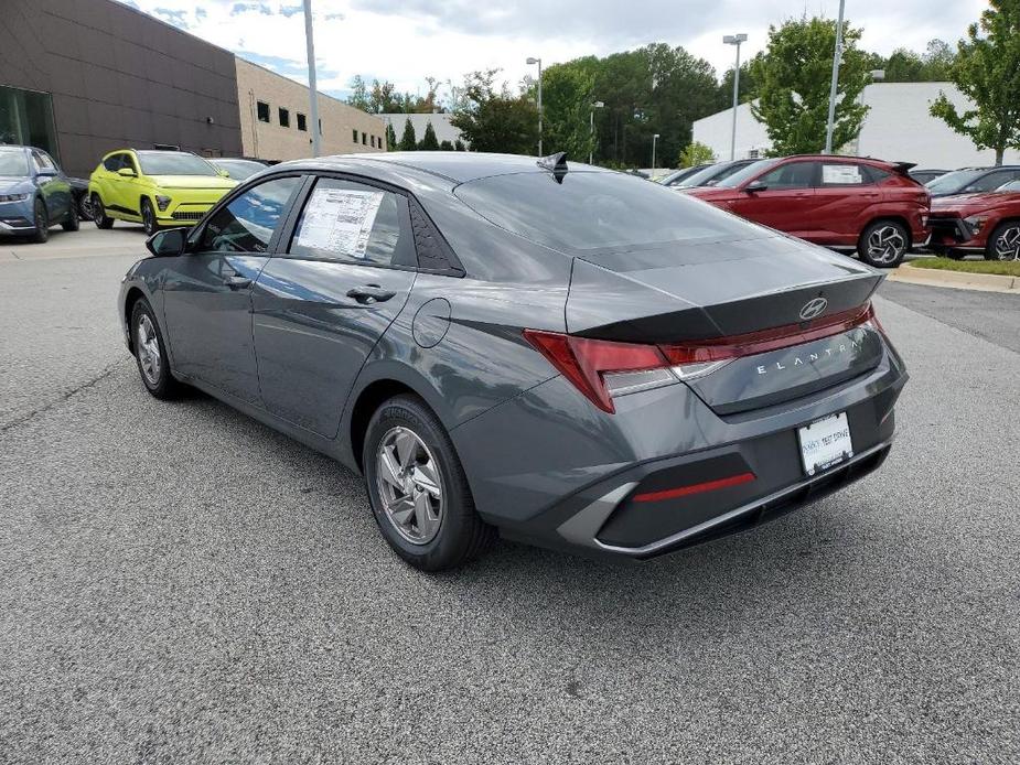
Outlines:
{"label": "rear side window of grey Elantra with white paper sticker", "polygon": [[290,255],[414,266],[407,198],[363,183],[320,179],[301,211]]}

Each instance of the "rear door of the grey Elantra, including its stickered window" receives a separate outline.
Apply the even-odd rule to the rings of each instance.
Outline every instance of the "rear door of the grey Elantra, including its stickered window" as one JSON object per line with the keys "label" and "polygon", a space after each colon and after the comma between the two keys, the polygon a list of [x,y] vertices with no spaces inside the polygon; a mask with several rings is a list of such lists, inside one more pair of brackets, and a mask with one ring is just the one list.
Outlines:
{"label": "rear door of the grey Elantra, including its stickered window", "polygon": [[415,283],[407,196],[362,179],[319,177],[286,250],[253,295],[262,401],[333,438],[358,371]]}

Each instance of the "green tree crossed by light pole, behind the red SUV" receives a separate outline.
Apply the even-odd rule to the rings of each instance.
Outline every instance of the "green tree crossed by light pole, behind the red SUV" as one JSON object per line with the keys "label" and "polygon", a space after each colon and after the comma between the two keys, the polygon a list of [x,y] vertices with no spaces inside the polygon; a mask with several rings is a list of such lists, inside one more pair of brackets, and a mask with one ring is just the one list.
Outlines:
{"label": "green tree crossed by light pole, behind the red SUV", "polygon": [[[861,30],[844,26],[842,64],[836,96],[833,147],[860,132],[868,107],[860,104],[870,57],[858,50]],[[755,119],[765,126],[775,155],[816,153],[825,148],[836,22],[828,19],[787,21],[769,28],[769,46],[751,72],[759,83]]]}

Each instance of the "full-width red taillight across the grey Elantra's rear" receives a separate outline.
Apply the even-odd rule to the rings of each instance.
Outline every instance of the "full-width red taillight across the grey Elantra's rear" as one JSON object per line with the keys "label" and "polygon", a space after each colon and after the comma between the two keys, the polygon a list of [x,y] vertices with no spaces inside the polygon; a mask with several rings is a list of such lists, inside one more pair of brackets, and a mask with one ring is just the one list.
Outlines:
{"label": "full-width red taillight across the grey Elantra's rear", "polygon": [[540,330],[525,330],[524,337],[592,403],[613,413],[614,396],[704,377],[737,358],[810,343],[872,321],[878,324],[868,303],[812,322],[678,345],[619,343]]}

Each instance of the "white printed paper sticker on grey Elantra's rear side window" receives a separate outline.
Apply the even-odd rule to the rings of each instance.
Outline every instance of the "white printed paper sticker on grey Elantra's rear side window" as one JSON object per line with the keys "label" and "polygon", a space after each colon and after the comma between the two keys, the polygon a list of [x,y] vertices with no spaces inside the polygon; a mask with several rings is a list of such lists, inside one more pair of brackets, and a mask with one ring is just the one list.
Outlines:
{"label": "white printed paper sticker on grey Elantra's rear side window", "polygon": [[315,188],[304,207],[297,244],[366,258],[368,237],[383,204],[380,191]]}

